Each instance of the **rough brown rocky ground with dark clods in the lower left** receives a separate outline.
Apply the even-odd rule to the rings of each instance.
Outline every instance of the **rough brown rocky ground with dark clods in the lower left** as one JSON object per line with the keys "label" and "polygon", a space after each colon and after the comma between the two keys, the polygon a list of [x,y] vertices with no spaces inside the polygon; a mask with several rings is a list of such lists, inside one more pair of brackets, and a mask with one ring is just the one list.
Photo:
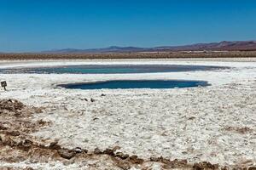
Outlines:
{"label": "rough brown rocky ground with dark clods in the lower left", "polygon": [[44,108],[23,105],[15,99],[0,100],[0,168],[1,169],[217,169],[218,164],[187,160],[169,160],[162,156],[143,160],[112,149],[73,150],[62,148],[57,140],[40,140],[30,133],[49,126],[51,122],[34,122],[31,117],[41,114]]}

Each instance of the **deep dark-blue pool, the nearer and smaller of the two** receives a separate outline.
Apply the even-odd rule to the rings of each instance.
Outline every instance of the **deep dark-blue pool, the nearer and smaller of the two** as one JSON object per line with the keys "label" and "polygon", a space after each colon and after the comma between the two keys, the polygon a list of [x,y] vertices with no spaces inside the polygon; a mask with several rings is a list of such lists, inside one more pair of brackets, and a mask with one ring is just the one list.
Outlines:
{"label": "deep dark-blue pool, the nearer and smaller of the two", "polygon": [[59,85],[62,88],[73,89],[126,89],[126,88],[193,88],[208,86],[204,81],[177,81],[177,80],[117,80],[107,82],[74,83]]}

